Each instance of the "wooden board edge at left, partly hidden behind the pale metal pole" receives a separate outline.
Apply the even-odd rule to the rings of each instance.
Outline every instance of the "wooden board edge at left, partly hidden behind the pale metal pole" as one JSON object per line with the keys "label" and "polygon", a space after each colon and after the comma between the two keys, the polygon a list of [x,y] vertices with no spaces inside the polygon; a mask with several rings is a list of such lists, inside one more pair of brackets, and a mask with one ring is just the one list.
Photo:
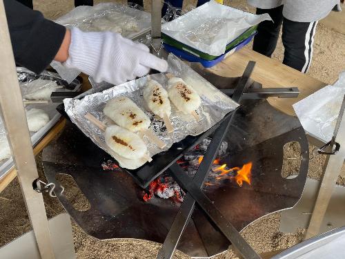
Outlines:
{"label": "wooden board edge at left, partly hidden behind the pale metal pole", "polygon": [[[61,118],[59,122],[50,130],[50,132],[43,137],[43,139],[34,147],[34,155],[37,155],[39,152],[43,150],[53,139],[57,134],[59,134],[63,127],[66,124],[66,119]],[[12,180],[17,176],[17,170],[13,167],[8,174],[0,180],[0,193],[3,191],[3,189],[12,182]]]}

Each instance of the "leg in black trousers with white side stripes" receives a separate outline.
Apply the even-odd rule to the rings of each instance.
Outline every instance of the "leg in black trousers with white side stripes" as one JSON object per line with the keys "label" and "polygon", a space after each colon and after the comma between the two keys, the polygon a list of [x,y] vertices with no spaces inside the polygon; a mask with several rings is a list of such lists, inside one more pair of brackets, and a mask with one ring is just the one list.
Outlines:
{"label": "leg in black trousers with white side stripes", "polygon": [[313,58],[317,21],[304,23],[284,18],[282,40],[285,48],[283,64],[307,73]]}

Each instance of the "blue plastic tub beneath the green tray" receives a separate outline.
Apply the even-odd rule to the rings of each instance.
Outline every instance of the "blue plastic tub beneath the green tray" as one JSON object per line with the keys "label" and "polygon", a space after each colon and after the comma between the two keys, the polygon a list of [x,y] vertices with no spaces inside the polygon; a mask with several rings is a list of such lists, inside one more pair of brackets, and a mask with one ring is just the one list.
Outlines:
{"label": "blue plastic tub beneath the green tray", "polygon": [[[255,33],[256,34],[256,33]],[[178,48],[175,48],[173,46],[170,46],[168,44],[163,44],[164,48],[168,51],[168,52],[172,52],[174,55],[176,55],[177,57],[181,57],[181,59],[186,59],[187,61],[190,62],[199,62],[201,63],[202,66],[204,66],[205,68],[210,68],[212,66],[215,66],[216,64],[218,64],[220,61],[222,61],[223,59],[225,59],[226,57],[230,56],[231,54],[233,54],[234,52],[236,52],[237,50],[240,50],[241,48],[243,48],[244,46],[246,46],[255,36],[252,35],[250,37],[248,37],[247,39],[245,39],[244,41],[240,42],[239,44],[237,44],[234,48],[231,48],[230,50],[228,50],[227,52],[225,52],[223,55],[220,55],[219,57],[217,57],[216,59],[213,60],[206,60],[206,59],[201,59],[200,57],[196,57],[195,55],[191,55],[190,53],[184,51],[184,50],[179,50]]]}

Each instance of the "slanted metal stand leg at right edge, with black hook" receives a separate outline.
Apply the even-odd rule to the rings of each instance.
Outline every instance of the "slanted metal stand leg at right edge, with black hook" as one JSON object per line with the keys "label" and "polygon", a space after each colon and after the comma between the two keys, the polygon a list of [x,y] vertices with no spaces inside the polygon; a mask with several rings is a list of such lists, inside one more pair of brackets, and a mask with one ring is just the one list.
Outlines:
{"label": "slanted metal stand leg at right edge, with black hook", "polygon": [[[324,174],[319,186],[319,193],[315,202],[313,214],[311,215],[311,221],[306,232],[306,238],[312,238],[319,234],[319,229],[324,219],[328,203],[331,200],[333,189],[342,165],[345,160],[345,97],[340,109],[337,124],[335,125],[335,131],[333,138],[330,142],[331,152],[328,153],[326,162],[324,165]],[[339,151],[332,152],[333,146],[339,148]]]}

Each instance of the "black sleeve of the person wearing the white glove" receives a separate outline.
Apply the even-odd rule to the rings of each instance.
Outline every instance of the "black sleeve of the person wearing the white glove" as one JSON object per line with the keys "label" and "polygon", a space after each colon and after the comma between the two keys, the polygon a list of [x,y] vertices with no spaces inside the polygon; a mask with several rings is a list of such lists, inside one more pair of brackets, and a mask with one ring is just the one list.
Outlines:
{"label": "black sleeve of the person wearing the white glove", "polygon": [[66,28],[17,1],[4,4],[16,63],[41,73],[57,54]]}

